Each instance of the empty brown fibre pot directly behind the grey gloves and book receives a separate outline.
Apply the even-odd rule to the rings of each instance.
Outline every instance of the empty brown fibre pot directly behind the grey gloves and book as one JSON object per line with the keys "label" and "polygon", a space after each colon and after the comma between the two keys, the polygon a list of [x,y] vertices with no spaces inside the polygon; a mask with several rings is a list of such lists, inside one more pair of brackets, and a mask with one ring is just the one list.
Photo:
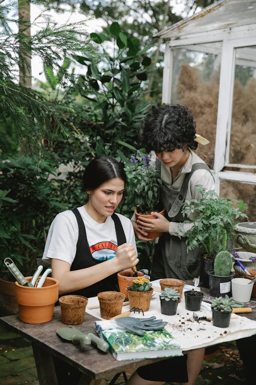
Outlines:
{"label": "empty brown fibre pot directly behind the grey gloves and book", "polygon": [[118,292],[101,292],[98,294],[100,317],[110,319],[121,314],[125,295]]}

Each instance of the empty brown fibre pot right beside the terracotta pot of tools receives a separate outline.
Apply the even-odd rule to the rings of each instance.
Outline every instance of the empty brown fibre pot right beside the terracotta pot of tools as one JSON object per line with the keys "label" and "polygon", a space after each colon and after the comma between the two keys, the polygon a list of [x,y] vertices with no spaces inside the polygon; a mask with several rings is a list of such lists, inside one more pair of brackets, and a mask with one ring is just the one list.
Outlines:
{"label": "empty brown fibre pot right beside the terracotta pot of tools", "polygon": [[59,298],[61,321],[68,325],[83,323],[88,298],[78,295],[67,295]]}

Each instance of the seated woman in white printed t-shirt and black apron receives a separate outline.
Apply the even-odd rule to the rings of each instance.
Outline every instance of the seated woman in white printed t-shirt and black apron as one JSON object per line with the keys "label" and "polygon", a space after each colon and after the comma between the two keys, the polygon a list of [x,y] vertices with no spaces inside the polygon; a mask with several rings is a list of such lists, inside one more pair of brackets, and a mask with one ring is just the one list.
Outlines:
{"label": "seated woman in white printed t-shirt and black apron", "polygon": [[[139,260],[130,219],[115,214],[126,182],[121,163],[102,155],[87,166],[83,175],[88,202],[59,213],[53,220],[43,259],[50,259],[52,276],[59,281],[59,293],[94,297],[117,290],[117,272],[135,266]],[[186,355],[162,360],[138,369],[128,385],[161,385],[167,381],[195,383],[194,368]],[[63,368],[56,360],[60,383],[75,385],[79,373]],[[189,373],[192,373],[190,376]],[[190,382],[188,378],[191,378]]]}

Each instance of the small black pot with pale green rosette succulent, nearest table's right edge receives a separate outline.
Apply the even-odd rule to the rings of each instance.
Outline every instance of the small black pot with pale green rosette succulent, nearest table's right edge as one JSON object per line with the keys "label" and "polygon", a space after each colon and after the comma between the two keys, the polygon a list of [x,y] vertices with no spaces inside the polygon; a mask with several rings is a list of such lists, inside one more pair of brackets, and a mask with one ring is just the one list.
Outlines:
{"label": "small black pot with pale green rosette succulent, nearest table's right edge", "polygon": [[218,328],[228,328],[232,307],[242,307],[242,302],[234,301],[227,295],[225,298],[217,297],[211,301],[212,324]]}

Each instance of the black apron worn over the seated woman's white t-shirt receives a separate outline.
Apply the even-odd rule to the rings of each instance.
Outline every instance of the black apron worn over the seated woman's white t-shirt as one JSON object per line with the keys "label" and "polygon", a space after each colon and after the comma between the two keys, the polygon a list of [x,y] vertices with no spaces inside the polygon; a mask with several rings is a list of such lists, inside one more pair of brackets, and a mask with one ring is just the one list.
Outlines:
{"label": "black apron worn over the seated woman's white t-shirt", "polygon": [[[96,261],[91,254],[90,246],[87,240],[86,227],[77,208],[72,210],[74,213],[77,223],[78,223],[78,240],[76,244],[76,255],[74,261],[71,265],[70,270],[79,270],[81,268],[91,267],[103,261]],[[111,217],[115,223],[116,236],[117,236],[117,245],[120,246],[126,242],[125,234],[119,217],[116,214],[113,214]],[[115,258],[115,257],[114,257]],[[117,273],[112,274],[109,277],[102,279],[99,282],[94,283],[91,286],[84,287],[76,292],[69,294],[77,294],[84,297],[95,297],[100,292],[105,291],[119,291],[118,282],[117,282]]]}

